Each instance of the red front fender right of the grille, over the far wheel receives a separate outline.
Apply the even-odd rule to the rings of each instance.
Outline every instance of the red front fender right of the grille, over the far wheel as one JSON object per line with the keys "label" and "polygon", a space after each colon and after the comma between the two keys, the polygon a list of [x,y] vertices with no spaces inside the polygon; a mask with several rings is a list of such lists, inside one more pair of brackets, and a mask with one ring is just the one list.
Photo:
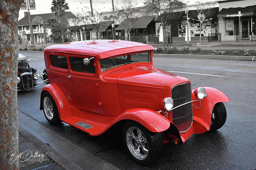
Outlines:
{"label": "red front fender right of the grille, over the far wheel", "polygon": [[[194,133],[204,133],[210,130],[212,109],[218,102],[230,102],[230,99],[221,91],[215,88],[204,87],[207,93],[207,97],[201,100],[202,107],[200,108],[200,102],[193,102],[197,109],[193,106],[193,124]],[[195,88],[196,89],[196,88]],[[194,95],[195,89],[192,90],[192,100],[198,99]]]}

